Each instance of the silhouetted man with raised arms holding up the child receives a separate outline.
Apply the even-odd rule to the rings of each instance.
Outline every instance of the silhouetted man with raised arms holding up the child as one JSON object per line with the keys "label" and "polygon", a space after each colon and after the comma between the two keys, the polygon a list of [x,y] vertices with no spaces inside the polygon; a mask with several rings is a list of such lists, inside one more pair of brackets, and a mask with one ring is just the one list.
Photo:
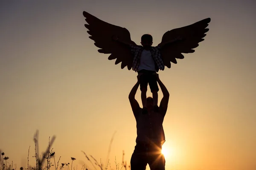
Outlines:
{"label": "silhouetted man with raised arms holding up the child", "polygon": [[159,110],[154,111],[153,98],[146,100],[148,112],[142,112],[139,103],[135,99],[135,94],[140,85],[140,76],[137,76],[137,83],[131,89],[129,101],[137,122],[137,138],[134,153],[131,156],[131,170],[145,170],[148,164],[151,170],[165,170],[165,158],[161,153],[162,145],[165,142],[163,131],[163,119],[167,111],[169,102],[169,92],[160,81],[157,82],[163,92],[163,99],[160,102]]}

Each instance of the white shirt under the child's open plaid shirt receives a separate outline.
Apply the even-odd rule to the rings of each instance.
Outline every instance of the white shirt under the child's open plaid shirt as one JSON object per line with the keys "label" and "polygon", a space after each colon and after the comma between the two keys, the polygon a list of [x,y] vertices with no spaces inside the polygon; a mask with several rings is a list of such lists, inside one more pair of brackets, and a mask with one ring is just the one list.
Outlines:
{"label": "white shirt under the child's open plaid shirt", "polygon": [[154,58],[150,50],[143,50],[141,53],[138,71],[143,69],[149,71],[156,71]]}

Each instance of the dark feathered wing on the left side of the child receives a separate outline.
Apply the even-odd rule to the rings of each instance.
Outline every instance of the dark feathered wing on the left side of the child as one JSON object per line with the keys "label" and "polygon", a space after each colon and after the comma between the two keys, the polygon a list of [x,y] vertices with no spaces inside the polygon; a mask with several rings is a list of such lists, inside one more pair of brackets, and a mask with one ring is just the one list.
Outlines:
{"label": "dark feathered wing on the left side of the child", "polygon": [[112,36],[116,35],[119,37],[119,40],[136,45],[131,40],[130,32],[126,28],[106,23],[86,11],[83,12],[83,15],[86,18],[85,21],[88,23],[84,24],[84,26],[89,30],[87,31],[91,35],[89,38],[95,41],[94,45],[96,47],[101,48],[98,50],[99,53],[111,54],[108,57],[109,60],[116,59],[115,64],[122,62],[122,69],[127,66],[128,70],[131,70],[133,56],[130,49],[112,40]]}

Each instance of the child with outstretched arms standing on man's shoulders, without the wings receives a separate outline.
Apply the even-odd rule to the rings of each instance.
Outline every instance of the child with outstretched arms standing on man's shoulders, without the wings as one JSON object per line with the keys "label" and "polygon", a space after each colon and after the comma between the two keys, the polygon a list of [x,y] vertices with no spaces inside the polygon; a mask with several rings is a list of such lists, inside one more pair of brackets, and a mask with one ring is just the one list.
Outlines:
{"label": "child with outstretched arms standing on man's shoulders, without the wings", "polygon": [[[150,34],[144,34],[141,37],[141,45],[132,45],[127,42],[123,42],[118,39],[117,36],[112,37],[113,40],[121,42],[123,44],[129,45],[131,48],[131,53],[134,56],[132,69],[140,76],[140,91],[141,91],[141,100],[142,100],[142,113],[147,113],[146,108],[146,93],[147,87],[151,90],[153,100],[154,100],[154,111],[158,112],[158,94],[159,91],[157,85],[157,77],[156,72],[164,69],[164,64],[162,57],[160,55],[159,49],[166,44],[160,44],[156,47],[152,47],[153,44],[153,37]],[[175,40],[169,41],[168,43],[175,42],[176,40],[181,40],[180,38],[176,38]]]}

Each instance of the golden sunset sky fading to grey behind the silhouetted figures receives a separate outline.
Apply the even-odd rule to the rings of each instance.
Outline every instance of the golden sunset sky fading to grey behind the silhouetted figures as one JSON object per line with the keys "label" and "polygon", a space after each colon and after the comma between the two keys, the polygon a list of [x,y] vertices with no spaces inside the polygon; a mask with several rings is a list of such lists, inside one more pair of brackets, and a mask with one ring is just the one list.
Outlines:
{"label": "golden sunset sky fading to grey behind the silhouetted figures", "polygon": [[[116,132],[111,167],[123,150],[129,164],[137,73],[97,51],[82,12],[127,28],[137,44],[151,34],[154,46],[166,31],[210,17],[195,53],[158,72],[170,93],[166,170],[256,170],[255,8],[255,0],[1,0],[0,149],[26,168],[39,130],[40,154],[56,135],[55,159],[92,170],[81,150],[105,167]],[[136,99],[142,106],[139,90]]]}

